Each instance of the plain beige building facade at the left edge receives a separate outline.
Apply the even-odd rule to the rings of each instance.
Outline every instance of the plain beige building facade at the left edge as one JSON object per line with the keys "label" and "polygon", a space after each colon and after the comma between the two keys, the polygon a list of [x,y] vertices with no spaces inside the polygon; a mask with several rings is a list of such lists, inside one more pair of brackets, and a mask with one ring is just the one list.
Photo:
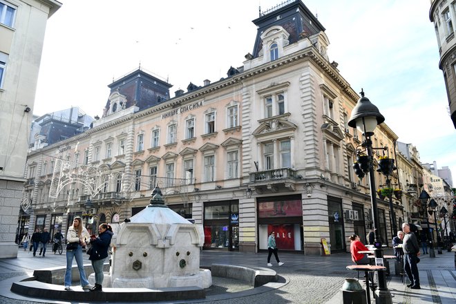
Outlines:
{"label": "plain beige building facade at the left edge", "polygon": [[61,3],[0,1],[0,258],[17,256],[28,131],[46,22]]}

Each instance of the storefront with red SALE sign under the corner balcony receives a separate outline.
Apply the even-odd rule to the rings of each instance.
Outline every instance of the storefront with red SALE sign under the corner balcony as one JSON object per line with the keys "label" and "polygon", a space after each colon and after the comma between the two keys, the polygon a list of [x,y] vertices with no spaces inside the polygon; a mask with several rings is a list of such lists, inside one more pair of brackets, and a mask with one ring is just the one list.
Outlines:
{"label": "storefront with red SALE sign under the corner balcony", "polygon": [[258,250],[267,250],[274,231],[280,250],[303,250],[303,207],[301,196],[258,198]]}

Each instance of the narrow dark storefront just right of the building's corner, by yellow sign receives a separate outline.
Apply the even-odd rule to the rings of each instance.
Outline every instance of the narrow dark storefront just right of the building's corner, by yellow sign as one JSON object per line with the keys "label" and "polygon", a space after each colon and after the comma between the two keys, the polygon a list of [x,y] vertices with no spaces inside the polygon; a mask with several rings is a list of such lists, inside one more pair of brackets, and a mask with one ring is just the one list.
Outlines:
{"label": "narrow dark storefront just right of the building's corner, by yellow sign", "polygon": [[345,252],[345,236],[343,231],[342,199],[327,197],[327,216],[330,223],[330,250],[332,254]]}

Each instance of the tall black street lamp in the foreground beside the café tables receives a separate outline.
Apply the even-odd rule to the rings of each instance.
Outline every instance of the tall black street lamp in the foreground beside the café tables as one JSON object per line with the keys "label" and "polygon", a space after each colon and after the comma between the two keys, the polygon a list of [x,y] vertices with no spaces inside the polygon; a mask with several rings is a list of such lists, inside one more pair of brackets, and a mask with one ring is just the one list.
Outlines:
{"label": "tall black street lamp in the foreground beside the caf\u00e9 tables", "polygon": [[[377,198],[375,191],[375,176],[374,169],[372,167],[372,140],[370,137],[374,135],[374,130],[377,125],[385,121],[385,117],[381,115],[379,108],[374,106],[368,97],[364,97],[364,92],[361,90],[361,98],[358,100],[357,105],[353,108],[352,115],[348,122],[348,125],[352,128],[357,128],[364,135],[364,141],[361,144],[365,148],[368,159],[370,161],[369,169],[369,185],[370,185],[370,202],[372,205],[373,222],[374,222],[374,245],[375,258],[383,260],[383,250],[381,248],[381,240],[379,235],[379,213],[377,210]],[[392,297],[388,287],[386,286],[385,272],[379,271],[379,303],[392,303]]]}

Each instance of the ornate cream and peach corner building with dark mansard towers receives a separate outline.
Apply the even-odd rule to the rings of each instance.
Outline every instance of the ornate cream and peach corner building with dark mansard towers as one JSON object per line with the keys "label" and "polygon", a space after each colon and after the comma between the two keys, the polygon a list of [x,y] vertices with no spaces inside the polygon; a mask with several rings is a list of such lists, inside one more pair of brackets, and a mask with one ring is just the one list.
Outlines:
{"label": "ornate cream and peach corner building with dark mansard towers", "polygon": [[[77,215],[92,231],[122,222],[158,185],[171,209],[204,226],[204,249],[265,250],[272,230],[279,248],[305,254],[323,254],[322,239],[336,253],[350,234],[365,238],[369,184],[354,175],[361,134],[348,126],[359,95],[328,58],[325,28],[302,1],[253,22],[253,52],[227,77],[170,97],[167,79],[139,68],[109,86],[91,129],[30,151],[19,231],[66,231]],[[379,126],[377,156],[395,155],[396,140]],[[390,243],[389,202],[378,205]],[[406,220],[401,199],[394,208]]]}

